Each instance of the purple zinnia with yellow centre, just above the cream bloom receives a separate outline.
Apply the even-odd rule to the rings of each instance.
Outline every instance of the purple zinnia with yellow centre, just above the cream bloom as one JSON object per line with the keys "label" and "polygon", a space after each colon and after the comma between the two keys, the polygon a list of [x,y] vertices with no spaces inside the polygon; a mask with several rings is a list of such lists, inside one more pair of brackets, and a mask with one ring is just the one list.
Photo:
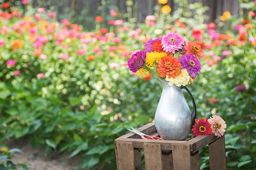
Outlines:
{"label": "purple zinnia with yellow centre, just above the cream bloom", "polygon": [[192,78],[196,78],[197,72],[201,70],[200,62],[191,54],[180,56],[179,63],[181,64],[180,69],[187,69],[189,76]]}

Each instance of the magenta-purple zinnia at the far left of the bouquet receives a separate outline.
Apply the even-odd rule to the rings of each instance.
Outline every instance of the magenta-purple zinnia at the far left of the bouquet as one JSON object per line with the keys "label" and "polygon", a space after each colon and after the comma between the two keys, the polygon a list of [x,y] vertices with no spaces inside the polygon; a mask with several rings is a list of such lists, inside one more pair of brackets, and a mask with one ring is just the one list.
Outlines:
{"label": "magenta-purple zinnia at the far left of the bouquet", "polygon": [[129,69],[135,73],[138,71],[142,65],[145,63],[146,52],[145,51],[138,51],[132,55],[130,60],[127,62]]}

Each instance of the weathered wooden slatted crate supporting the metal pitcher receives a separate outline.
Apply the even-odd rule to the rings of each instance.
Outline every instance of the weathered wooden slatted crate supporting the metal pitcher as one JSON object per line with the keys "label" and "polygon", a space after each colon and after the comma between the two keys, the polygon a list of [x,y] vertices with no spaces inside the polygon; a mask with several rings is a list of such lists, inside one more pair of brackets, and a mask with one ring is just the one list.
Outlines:
{"label": "weathered wooden slatted crate supporting the metal pitcher", "polygon": [[[158,136],[154,123],[137,129]],[[115,140],[118,170],[141,170],[140,150],[144,150],[146,170],[200,170],[199,149],[209,147],[210,169],[226,170],[225,137],[207,135],[183,141],[141,139],[132,132]]]}

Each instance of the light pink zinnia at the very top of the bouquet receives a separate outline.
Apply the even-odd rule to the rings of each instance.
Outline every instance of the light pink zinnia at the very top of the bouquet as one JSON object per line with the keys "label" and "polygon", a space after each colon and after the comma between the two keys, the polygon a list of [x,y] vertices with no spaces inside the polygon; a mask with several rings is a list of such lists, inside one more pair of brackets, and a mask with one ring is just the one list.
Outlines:
{"label": "light pink zinnia at the very top of the bouquet", "polygon": [[178,33],[168,33],[162,38],[163,50],[174,54],[175,51],[179,51],[184,48],[185,41]]}

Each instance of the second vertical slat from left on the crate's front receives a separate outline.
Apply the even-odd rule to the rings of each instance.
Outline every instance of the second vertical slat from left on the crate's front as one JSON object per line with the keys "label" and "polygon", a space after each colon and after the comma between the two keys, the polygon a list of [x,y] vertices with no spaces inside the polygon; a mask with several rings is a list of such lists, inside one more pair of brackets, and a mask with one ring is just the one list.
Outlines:
{"label": "second vertical slat from left on the crate's front", "polygon": [[146,170],[163,170],[161,144],[144,143]]}

